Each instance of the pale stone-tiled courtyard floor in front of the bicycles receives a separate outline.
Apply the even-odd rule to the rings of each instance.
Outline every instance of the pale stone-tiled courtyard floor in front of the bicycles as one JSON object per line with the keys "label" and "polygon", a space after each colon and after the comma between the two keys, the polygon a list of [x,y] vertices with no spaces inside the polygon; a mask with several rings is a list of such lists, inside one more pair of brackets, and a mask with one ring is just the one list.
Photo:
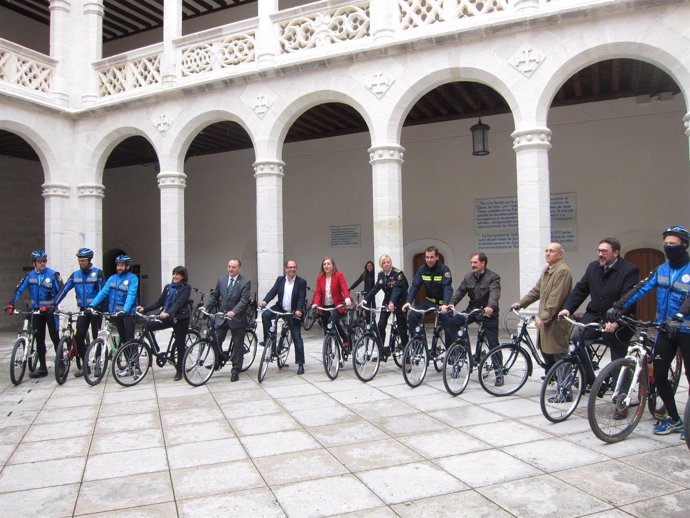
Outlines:
{"label": "pale stone-tiled courtyard floor in front of the bicycles", "polygon": [[[319,331],[306,374],[229,368],[203,387],[154,367],[138,386],[9,381],[0,333],[0,514],[31,516],[690,516],[690,451],[645,417],[606,445],[586,404],[561,424],[539,377],[494,398],[448,395],[433,368],[410,389],[392,361],[369,384],[329,381]],[[261,350],[261,349],[260,349]],[[50,353],[49,353],[50,357]],[[684,403],[683,378],[677,397]]]}

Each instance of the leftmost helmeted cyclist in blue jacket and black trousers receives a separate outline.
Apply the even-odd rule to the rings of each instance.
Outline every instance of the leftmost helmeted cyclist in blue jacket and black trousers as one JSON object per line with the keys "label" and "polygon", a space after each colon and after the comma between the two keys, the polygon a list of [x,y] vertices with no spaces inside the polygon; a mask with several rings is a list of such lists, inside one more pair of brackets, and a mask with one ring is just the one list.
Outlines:
{"label": "leftmost helmeted cyclist in blue jacket and black trousers", "polygon": [[39,367],[29,374],[30,378],[43,378],[48,375],[46,366],[46,326],[53,348],[57,349],[60,341],[57,318],[53,314],[53,299],[60,289],[59,273],[48,268],[48,255],[44,250],[31,252],[31,265],[34,267],[27,273],[14,290],[10,303],[5,306],[5,313],[14,313],[14,307],[22,293],[29,288],[31,308],[40,311],[38,315],[32,315],[32,325],[36,333],[36,352],[38,353]]}

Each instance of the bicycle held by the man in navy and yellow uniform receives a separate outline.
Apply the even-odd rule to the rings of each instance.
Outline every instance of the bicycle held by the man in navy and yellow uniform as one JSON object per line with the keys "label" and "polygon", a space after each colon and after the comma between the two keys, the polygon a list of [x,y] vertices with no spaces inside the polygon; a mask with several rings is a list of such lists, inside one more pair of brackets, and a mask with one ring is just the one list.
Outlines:
{"label": "bicycle held by the man in navy and yellow uniform", "polygon": [[410,311],[415,311],[426,316],[427,313],[434,312],[434,327],[431,334],[431,347],[428,347],[424,318],[421,319],[411,333],[410,341],[407,342],[403,351],[403,378],[411,388],[418,387],[426,377],[429,366],[429,358],[434,361],[436,372],[443,370],[443,362],[446,355],[446,342],[443,339],[443,325],[439,323],[441,312],[437,308],[416,309],[410,306]]}

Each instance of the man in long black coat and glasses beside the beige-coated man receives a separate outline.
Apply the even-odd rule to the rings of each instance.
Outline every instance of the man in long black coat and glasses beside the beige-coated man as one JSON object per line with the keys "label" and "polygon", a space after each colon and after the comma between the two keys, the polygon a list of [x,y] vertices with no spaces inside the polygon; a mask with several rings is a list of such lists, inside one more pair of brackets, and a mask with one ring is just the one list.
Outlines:
{"label": "man in long black coat and glasses beside the beige-coated man", "polygon": [[[597,260],[589,263],[582,279],[568,295],[559,316],[570,316],[589,296],[591,300],[581,322],[606,322],[606,311],[635,286],[640,275],[637,266],[623,259],[620,252],[621,244],[616,238],[607,237],[599,242]],[[632,311],[634,308],[627,312]],[[628,350],[632,330],[619,331],[615,322],[606,323],[604,330],[602,338],[609,347],[611,360],[623,358]]]}

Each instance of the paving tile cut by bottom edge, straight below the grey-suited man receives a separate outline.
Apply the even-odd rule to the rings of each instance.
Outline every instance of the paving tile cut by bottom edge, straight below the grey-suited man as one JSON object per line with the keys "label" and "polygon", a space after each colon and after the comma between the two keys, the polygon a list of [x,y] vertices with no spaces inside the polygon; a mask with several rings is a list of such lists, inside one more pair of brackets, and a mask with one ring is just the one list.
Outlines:
{"label": "paving tile cut by bottom edge, straight below the grey-suited man", "polygon": [[282,518],[285,512],[269,489],[251,489],[229,495],[214,495],[182,500],[178,503],[181,518]]}

